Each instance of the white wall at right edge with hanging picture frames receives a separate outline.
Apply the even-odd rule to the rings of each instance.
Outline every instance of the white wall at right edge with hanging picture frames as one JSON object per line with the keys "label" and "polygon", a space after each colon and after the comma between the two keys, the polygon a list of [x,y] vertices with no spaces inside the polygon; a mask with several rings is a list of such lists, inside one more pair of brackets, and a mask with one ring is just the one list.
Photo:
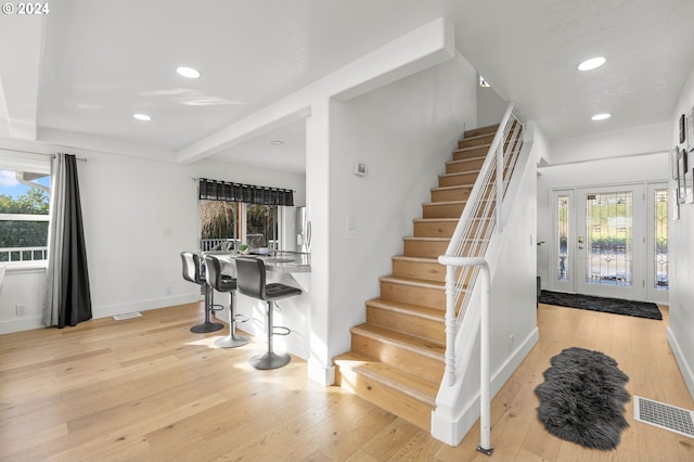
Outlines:
{"label": "white wall at right edge with hanging picture frames", "polygon": [[[689,114],[694,106],[694,68],[682,89],[677,103],[677,110],[670,124],[670,145],[678,145],[680,114]],[[692,174],[692,159],[690,153],[690,174]],[[670,188],[674,182],[670,181]],[[671,249],[668,261],[670,274],[670,326],[668,329],[668,342],[680,371],[684,376],[690,395],[694,398],[694,204],[680,206],[680,219],[669,221],[669,248]]]}

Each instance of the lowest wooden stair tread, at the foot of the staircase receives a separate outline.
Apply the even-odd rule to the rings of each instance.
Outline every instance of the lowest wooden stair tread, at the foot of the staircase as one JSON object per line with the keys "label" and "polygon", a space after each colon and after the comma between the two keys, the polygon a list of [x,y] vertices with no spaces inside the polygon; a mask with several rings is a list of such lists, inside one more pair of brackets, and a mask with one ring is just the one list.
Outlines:
{"label": "lowest wooden stair tread, at the foot of the staircase", "polygon": [[433,382],[352,351],[340,355],[333,361],[340,368],[350,368],[432,408],[436,407],[438,385]]}

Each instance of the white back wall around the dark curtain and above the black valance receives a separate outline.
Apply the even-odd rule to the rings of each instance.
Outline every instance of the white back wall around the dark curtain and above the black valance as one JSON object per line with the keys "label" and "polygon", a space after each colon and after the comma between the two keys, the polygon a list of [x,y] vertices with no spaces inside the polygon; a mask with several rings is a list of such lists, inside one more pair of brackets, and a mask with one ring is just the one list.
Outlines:
{"label": "white back wall around the dark curtain and above the black valance", "polygon": [[[179,256],[196,249],[200,238],[192,177],[290,188],[297,204],[305,201],[303,175],[214,161],[179,165],[83,150],[75,154],[87,159],[78,163],[78,174],[94,318],[197,299],[198,288],[181,277]],[[0,333],[40,326],[44,275],[5,274]],[[20,303],[27,306],[26,317],[15,315]]]}

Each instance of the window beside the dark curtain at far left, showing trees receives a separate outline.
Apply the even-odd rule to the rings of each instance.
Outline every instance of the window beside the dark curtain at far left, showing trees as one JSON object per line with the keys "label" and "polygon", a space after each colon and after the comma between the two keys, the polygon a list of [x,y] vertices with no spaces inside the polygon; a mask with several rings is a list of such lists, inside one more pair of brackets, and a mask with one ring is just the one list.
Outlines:
{"label": "window beside the dark curtain at far left, showing trees", "polygon": [[[0,169],[0,262],[11,266],[48,257],[50,175],[44,168]],[[29,264],[30,265],[30,264]]]}

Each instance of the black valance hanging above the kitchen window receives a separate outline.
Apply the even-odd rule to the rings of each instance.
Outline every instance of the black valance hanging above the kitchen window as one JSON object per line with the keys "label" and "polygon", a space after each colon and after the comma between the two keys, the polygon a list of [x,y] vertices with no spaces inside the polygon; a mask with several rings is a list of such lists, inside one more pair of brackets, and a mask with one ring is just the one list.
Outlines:
{"label": "black valance hanging above the kitchen window", "polygon": [[200,198],[205,201],[245,202],[246,204],[294,205],[294,192],[280,188],[200,179]]}

